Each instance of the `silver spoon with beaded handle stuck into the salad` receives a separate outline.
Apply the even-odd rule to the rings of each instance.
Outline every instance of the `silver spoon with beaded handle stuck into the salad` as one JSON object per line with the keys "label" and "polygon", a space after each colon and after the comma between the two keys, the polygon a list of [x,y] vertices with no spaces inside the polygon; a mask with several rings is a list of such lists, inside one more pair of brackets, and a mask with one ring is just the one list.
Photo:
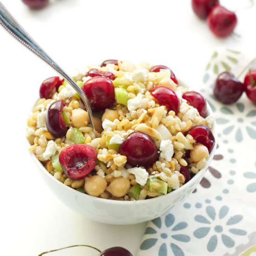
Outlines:
{"label": "silver spoon with beaded handle stuck into the salad", "polygon": [[[7,32],[9,32],[15,39],[17,39],[21,44],[26,46],[35,55],[40,57],[48,65],[50,65],[58,74],[60,74],[65,80],[76,90],[76,92],[81,97],[86,110],[88,112],[89,120],[94,129],[94,124],[92,121],[92,109],[87,96],[81,90],[81,88],[75,83],[75,81],[67,75],[67,73],[55,62],[52,58],[32,39],[32,37],[27,34],[25,29],[20,26],[20,24],[13,18],[12,14],[9,13],[6,7],[0,2],[0,25],[2,25]],[[94,130],[95,131],[95,130]]]}

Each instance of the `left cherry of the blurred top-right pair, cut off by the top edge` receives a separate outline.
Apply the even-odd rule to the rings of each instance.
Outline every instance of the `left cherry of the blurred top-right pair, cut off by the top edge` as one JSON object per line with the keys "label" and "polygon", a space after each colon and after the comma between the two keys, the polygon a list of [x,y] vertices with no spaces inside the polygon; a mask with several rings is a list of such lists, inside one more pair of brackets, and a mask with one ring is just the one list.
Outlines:
{"label": "left cherry of the blurred top-right pair, cut off by the top edge", "polygon": [[207,18],[216,5],[219,5],[219,0],[192,0],[193,11],[202,20]]}

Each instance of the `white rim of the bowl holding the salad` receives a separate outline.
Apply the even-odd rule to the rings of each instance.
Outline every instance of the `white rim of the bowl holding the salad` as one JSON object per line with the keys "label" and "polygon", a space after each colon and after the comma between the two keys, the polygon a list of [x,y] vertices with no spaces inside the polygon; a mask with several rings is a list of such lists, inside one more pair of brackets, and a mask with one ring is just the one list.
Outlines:
{"label": "white rim of the bowl holding the salad", "polygon": [[[186,87],[188,88],[187,84],[184,83],[183,81],[180,81],[179,80],[179,85],[181,85],[183,87]],[[37,99],[38,101],[38,99]],[[35,104],[33,105],[33,108],[34,106],[36,105],[37,101],[35,102]],[[213,110],[211,108],[211,106],[209,105],[208,101],[206,100],[206,103],[207,103],[207,116],[209,115],[213,115]],[[32,108],[32,109],[33,109]],[[213,160],[213,157],[215,155],[215,151],[216,151],[216,148],[217,148],[217,142],[216,142],[216,120],[214,121],[214,124],[213,124],[213,127],[211,128],[211,131],[215,137],[215,145],[211,151],[211,153],[209,154],[209,158],[207,160],[207,165],[202,168],[196,175],[202,175],[204,176],[205,172],[207,171],[207,169],[209,168],[209,163]],[[26,139],[27,141],[27,147],[31,147],[29,141]],[[160,196],[157,196],[157,197],[153,197],[153,198],[149,198],[149,199],[144,199],[144,200],[134,200],[134,201],[121,201],[121,200],[111,200],[111,199],[105,199],[105,198],[100,198],[100,197],[95,197],[95,196],[92,196],[92,195],[88,195],[86,193],[81,193],[79,191],[77,191],[76,189],[73,189],[73,188],[70,188],[68,187],[67,185],[65,185],[64,183],[60,182],[59,180],[57,180],[56,178],[54,178],[53,175],[51,175],[47,169],[42,165],[42,163],[37,159],[37,157],[34,155],[33,152],[29,152],[29,154],[31,155],[32,159],[34,160],[34,163],[37,165],[37,167],[41,170],[41,172],[46,175],[47,178],[49,178],[50,180],[52,180],[53,182],[55,182],[57,184],[57,186],[60,186],[61,188],[63,189],[67,189],[67,191],[73,193],[74,195],[76,196],[79,196],[79,197],[84,197],[86,200],[93,200],[93,201],[97,201],[97,202],[101,202],[101,203],[107,203],[107,204],[115,204],[115,205],[132,205],[132,204],[148,204],[150,202],[153,202],[153,201],[157,201],[159,200],[159,198],[165,198],[167,199],[167,197],[169,196],[175,196],[175,194],[177,193],[180,193],[182,192],[182,190],[186,189],[189,184],[191,184],[193,182],[193,178],[190,179],[187,183],[185,183],[184,185],[182,185],[182,187],[178,188],[178,189],[175,189],[173,190],[171,193],[168,193],[166,195],[160,195]]]}

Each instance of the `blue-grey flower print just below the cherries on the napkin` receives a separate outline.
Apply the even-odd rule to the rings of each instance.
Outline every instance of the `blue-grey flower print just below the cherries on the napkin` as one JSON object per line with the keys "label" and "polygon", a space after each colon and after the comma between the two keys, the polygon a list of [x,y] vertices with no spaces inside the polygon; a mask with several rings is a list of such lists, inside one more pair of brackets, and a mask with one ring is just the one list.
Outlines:
{"label": "blue-grey flower print just below the cherries on the napkin", "polygon": [[245,134],[256,140],[256,110],[251,109],[245,112],[245,109],[247,108],[241,102],[230,107],[222,106],[220,111],[225,117],[216,119],[218,125],[225,126],[222,133],[224,135],[234,133],[237,142],[243,141]]}

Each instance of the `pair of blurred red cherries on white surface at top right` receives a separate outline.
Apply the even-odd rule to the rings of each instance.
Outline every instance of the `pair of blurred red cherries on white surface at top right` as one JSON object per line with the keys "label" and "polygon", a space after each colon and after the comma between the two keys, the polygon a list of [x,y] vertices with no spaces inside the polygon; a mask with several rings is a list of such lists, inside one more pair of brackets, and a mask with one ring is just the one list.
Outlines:
{"label": "pair of blurred red cherries on white surface at top right", "polygon": [[233,33],[237,24],[236,13],[221,6],[219,0],[192,0],[192,7],[200,19],[207,19],[210,30],[217,37]]}

